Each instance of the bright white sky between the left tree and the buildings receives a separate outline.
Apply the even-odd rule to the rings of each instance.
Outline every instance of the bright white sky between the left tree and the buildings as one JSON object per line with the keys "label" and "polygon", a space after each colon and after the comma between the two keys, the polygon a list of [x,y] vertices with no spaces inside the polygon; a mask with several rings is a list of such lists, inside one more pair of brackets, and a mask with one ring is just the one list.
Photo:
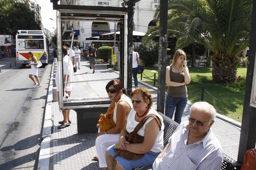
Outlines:
{"label": "bright white sky between the left tree and the buildings", "polygon": [[[36,0],[36,3],[39,4],[41,7],[43,27],[51,32],[54,32],[54,29],[57,28],[56,10],[53,10],[51,0]],[[51,20],[50,18],[53,20]]]}

